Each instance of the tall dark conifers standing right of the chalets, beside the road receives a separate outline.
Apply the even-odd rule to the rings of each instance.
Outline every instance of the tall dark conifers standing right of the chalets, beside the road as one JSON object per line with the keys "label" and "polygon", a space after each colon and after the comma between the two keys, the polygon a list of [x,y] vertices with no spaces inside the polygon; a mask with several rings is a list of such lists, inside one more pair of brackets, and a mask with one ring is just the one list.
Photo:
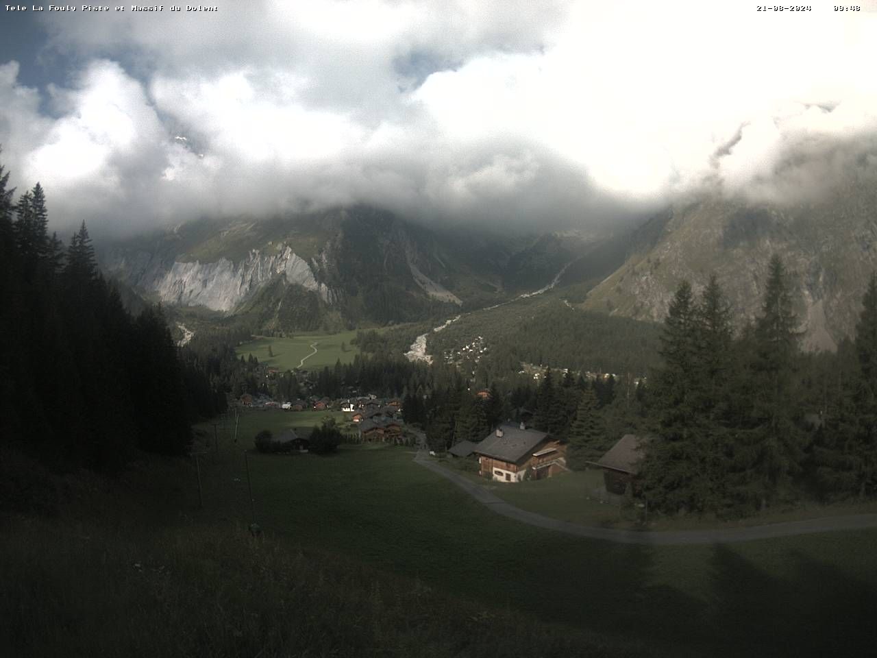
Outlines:
{"label": "tall dark conifers standing right of the chalets, beside the road", "polygon": [[742,331],[716,278],[676,290],[652,382],[644,495],[660,509],[745,514],[877,493],[877,275],[853,340],[805,354],[778,256]]}

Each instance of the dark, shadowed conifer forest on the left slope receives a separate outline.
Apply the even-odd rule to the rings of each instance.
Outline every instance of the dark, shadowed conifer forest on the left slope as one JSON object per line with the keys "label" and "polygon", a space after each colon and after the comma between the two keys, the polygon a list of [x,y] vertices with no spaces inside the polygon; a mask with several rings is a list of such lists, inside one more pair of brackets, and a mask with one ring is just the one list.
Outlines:
{"label": "dark, shadowed conifer forest on the left slope", "polygon": [[[159,306],[136,317],[125,310],[98,271],[84,224],[65,246],[47,231],[39,182],[18,199],[8,182],[0,167],[4,453],[52,472],[109,474],[138,450],[187,453],[191,421],[221,411],[225,397],[193,361],[181,361]],[[25,477],[4,473],[7,497],[26,490],[16,484]]]}

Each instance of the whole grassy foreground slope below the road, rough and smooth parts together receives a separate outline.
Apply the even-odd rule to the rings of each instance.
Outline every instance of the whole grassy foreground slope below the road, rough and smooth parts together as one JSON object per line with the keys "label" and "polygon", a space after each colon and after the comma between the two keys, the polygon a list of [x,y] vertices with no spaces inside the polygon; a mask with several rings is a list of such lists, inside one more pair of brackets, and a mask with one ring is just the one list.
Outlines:
{"label": "whole grassy foreground slope below the road, rough and smooth parts together", "polygon": [[[104,507],[82,527],[7,524],[0,614],[31,629],[15,647],[138,654],[132,636],[150,655],[801,656],[877,642],[877,531],[715,547],[583,540],[503,519],[410,452],[366,446],[250,454],[267,537],[253,542],[243,455],[221,447],[202,462],[203,511],[177,463],[140,474],[146,494],[93,496]],[[55,618],[62,630],[42,633]],[[89,644],[80,625],[103,640]],[[162,625],[179,639],[139,630]]]}

